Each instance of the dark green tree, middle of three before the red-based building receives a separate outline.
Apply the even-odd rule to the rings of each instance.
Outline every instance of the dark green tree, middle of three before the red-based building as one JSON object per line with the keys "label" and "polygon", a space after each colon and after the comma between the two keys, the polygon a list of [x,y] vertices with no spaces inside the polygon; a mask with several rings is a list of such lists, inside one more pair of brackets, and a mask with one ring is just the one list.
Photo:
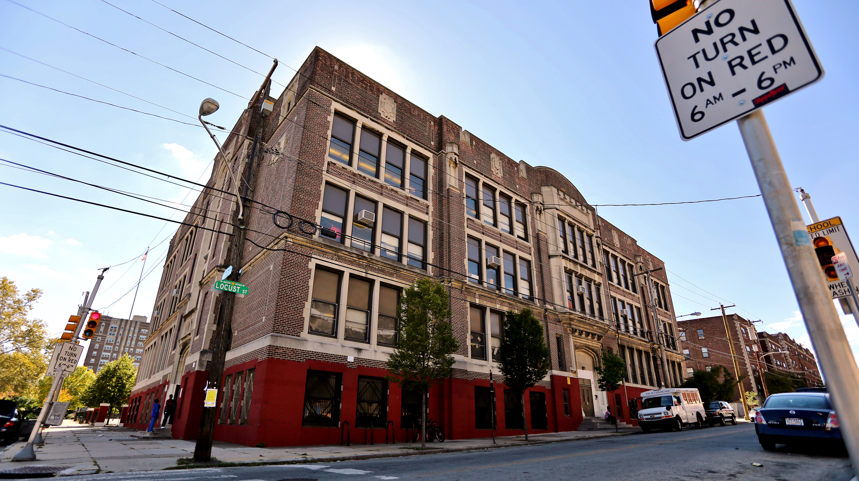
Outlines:
{"label": "dark green tree, middle of three before the red-based building", "polygon": [[525,393],[549,374],[549,347],[543,338],[543,325],[534,317],[531,309],[521,312],[508,311],[504,318],[504,336],[498,350],[498,368],[504,374],[504,383],[519,399],[525,441],[528,440],[528,424],[525,419]]}

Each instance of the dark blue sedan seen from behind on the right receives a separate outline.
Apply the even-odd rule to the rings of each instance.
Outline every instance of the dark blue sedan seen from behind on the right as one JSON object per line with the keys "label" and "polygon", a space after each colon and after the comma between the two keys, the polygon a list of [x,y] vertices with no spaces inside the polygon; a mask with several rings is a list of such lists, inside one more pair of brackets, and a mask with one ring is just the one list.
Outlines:
{"label": "dark blue sedan seen from behind on the right", "polygon": [[838,417],[829,394],[808,390],[801,393],[772,394],[754,419],[762,448],[772,450],[777,443],[817,445],[821,442],[844,447]]}

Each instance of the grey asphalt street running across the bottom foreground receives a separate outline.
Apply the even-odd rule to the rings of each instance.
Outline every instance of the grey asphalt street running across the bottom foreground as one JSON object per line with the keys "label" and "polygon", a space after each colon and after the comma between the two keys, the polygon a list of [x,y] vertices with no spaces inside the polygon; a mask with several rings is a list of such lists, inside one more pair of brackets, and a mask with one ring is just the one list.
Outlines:
{"label": "grey asphalt street running across the bottom foreground", "polygon": [[[763,466],[752,466],[759,463]],[[96,474],[85,481],[375,481],[376,479],[749,479],[849,481],[839,454],[780,446],[760,448],[754,426],[741,423],[593,441],[484,449],[450,454],[181,471]]]}

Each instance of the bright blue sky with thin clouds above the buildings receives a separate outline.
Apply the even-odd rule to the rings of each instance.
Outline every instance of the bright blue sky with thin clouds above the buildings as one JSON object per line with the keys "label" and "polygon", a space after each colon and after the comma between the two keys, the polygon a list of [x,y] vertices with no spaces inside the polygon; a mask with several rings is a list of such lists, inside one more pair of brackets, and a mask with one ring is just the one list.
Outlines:
{"label": "bright blue sky with thin clouds above the buildings", "polygon": [[[230,2],[159,0],[278,58],[286,83],[314,46],[338,56],[435,115],[445,115],[510,157],[553,167],[592,204],[641,204],[758,194],[739,131],[728,124],[691,142],[679,138],[653,49],[645,0],[619,3]],[[139,56],[0,0],[0,74],[191,124],[200,100],[231,126],[262,75],[192,46],[103,2],[16,0]],[[174,14],[152,0],[111,0],[252,70],[271,59]],[[859,104],[859,3],[796,0],[825,78],[765,108],[793,186],[822,218],[842,216],[859,235],[859,174],[853,113]],[[86,77],[179,113],[120,94]],[[853,79],[853,80],[850,80]],[[215,147],[199,126],[61,94],[0,77],[0,124],[196,180]],[[279,94],[279,91],[277,91]],[[223,138],[223,137],[221,137]],[[196,193],[105,163],[0,133],[0,157],[101,186],[190,204]],[[3,163],[3,162],[0,162]],[[4,182],[180,219],[174,210],[68,180],[0,167]],[[139,259],[146,271],[133,314],[151,313],[174,225],[0,186],[0,275],[45,295],[34,311],[58,331],[97,269]],[[186,198],[186,196],[188,196]],[[173,204],[174,207],[180,205]],[[804,210],[803,210],[804,213]],[[763,329],[807,332],[760,198],[710,204],[603,207],[605,216],[667,263],[677,314],[719,302]],[[168,241],[163,241],[165,238]],[[163,241],[163,242],[161,242]],[[161,242],[161,244],[159,244]],[[95,301],[127,317],[143,263],[107,272]],[[859,352],[859,328],[843,317]]]}

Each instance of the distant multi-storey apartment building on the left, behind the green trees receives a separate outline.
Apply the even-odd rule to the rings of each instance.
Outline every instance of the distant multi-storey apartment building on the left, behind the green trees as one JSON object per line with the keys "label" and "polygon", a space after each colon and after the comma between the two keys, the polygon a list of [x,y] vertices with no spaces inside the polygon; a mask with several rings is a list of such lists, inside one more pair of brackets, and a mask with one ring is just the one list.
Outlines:
{"label": "distant multi-storey apartment building on the left, behind the green trees", "polygon": [[146,316],[131,316],[129,320],[102,315],[99,331],[89,341],[83,365],[98,372],[107,362],[128,354],[134,359],[134,366],[139,367],[147,338],[149,322]]}

